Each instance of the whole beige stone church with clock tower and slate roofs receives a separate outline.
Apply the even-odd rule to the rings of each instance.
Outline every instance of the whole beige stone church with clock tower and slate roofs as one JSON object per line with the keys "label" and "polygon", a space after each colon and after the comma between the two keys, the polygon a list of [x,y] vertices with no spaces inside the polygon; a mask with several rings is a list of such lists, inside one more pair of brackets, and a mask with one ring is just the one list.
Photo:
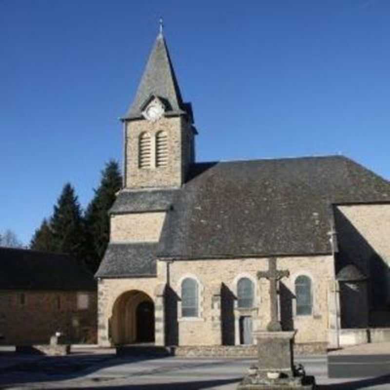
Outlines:
{"label": "whole beige stone church with clock tower and slate roofs", "polygon": [[344,156],[196,162],[192,105],[161,32],[122,123],[124,183],[96,274],[100,345],[254,345],[270,320],[256,276],[270,258],[290,272],[278,315],[297,345],[389,338],[389,181]]}

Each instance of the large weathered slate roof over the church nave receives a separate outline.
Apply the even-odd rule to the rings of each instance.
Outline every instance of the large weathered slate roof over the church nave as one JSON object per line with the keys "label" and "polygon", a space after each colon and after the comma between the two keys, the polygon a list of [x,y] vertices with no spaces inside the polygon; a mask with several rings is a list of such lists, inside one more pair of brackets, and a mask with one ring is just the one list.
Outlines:
{"label": "large weathered slate roof over the church nave", "polygon": [[158,257],[329,254],[333,203],[390,201],[390,183],[344,156],[195,164]]}

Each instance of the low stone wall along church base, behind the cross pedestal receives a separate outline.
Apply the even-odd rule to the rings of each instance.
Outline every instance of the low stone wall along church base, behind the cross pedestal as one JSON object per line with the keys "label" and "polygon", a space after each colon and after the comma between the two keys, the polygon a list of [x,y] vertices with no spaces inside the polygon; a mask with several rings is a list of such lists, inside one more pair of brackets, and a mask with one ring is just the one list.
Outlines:
{"label": "low stone wall along church base, behind the cross pedestal", "polygon": [[[327,351],[327,343],[300,343],[294,345],[295,355],[313,355],[313,354],[325,354]],[[220,356],[220,357],[256,357],[257,346],[227,346],[227,345],[210,345],[210,346],[182,346],[173,347],[173,353],[176,356],[185,357],[207,357],[207,356]]]}

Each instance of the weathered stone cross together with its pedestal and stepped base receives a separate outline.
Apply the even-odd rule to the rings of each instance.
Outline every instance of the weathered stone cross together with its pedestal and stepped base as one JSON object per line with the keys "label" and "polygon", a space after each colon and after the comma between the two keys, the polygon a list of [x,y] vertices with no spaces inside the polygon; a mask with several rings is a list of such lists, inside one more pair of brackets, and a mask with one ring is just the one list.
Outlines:
{"label": "weathered stone cross together with its pedestal and stepped base", "polygon": [[250,367],[237,390],[313,390],[313,376],[294,367],[293,341],[296,331],[282,331],[277,315],[277,282],[289,277],[289,271],[276,269],[276,258],[269,259],[266,272],[257,277],[270,281],[271,320],[264,331],[255,331],[257,366]]}

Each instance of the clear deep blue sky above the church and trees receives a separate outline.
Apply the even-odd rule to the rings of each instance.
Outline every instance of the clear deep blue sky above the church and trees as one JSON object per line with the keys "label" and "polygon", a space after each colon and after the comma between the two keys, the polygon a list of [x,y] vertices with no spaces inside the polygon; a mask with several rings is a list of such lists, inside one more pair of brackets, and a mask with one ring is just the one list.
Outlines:
{"label": "clear deep blue sky above the church and trees", "polygon": [[390,179],[390,1],[0,0],[0,232],[85,206],[164,18],[197,160],[341,153]]}

